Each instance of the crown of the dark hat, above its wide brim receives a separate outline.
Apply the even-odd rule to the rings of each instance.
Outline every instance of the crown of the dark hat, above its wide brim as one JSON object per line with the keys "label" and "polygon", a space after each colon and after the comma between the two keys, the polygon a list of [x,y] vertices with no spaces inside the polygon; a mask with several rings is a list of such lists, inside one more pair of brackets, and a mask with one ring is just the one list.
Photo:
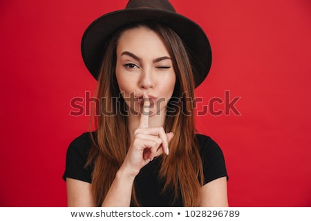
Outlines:
{"label": "crown of the dark hat, above its wide brim", "polygon": [[165,10],[176,12],[175,8],[167,0],[129,0],[126,9],[151,8],[153,10]]}

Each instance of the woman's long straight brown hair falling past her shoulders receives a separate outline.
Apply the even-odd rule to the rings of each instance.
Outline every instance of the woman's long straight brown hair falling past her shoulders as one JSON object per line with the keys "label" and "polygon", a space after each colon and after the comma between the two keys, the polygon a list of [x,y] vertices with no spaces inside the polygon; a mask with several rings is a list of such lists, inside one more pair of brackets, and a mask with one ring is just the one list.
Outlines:
{"label": "woman's long straight brown hair falling past her shoulders", "polygon": [[[124,30],[129,28],[149,28],[160,37],[173,61],[176,73],[176,86],[173,96],[167,105],[167,116],[164,130],[172,131],[173,139],[169,144],[169,155],[162,156],[162,165],[159,178],[164,180],[162,193],[173,190],[173,201],[181,194],[184,206],[198,206],[200,201],[200,186],[203,184],[202,163],[198,144],[196,142],[196,129],[194,126],[194,79],[187,50],[182,40],[171,28],[158,23],[144,22],[118,30],[108,44],[102,61],[102,70],[97,80],[97,97],[104,98],[102,106],[96,106],[95,119],[97,128],[93,137],[87,165],[93,165],[92,191],[95,204],[101,206],[106,193],[115,178],[117,170],[122,165],[130,145],[129,128],[124,99],[120,96],[115,77],[117,41]],[[109,113],[103,111],[109,110]],[[133,186],[131,204],[140,206]]]}

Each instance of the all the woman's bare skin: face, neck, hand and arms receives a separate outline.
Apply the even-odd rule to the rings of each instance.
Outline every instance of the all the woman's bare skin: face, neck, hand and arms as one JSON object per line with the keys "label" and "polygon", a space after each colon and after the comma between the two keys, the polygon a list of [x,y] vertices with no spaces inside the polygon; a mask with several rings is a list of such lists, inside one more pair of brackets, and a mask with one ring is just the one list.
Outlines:
{"label": "all the woman's bare skin: face, neck, hand and arms", "polygon": [[[176,75],[162,39],[147,28],[133,28],[121,35],[115,74],[122,95],[133,98],[124,99],[133,113],[129,115],[131,146],[102,206],[122,207],[130,206],[133,182],[140,169],[157,155],[169,154],[173,133],[165,133],[163,126]],[[158,104],[159,99],[163,102]],[[91,184],[67,178],[66,185],[68,206],[95,206]],[[205,184],[200,194],[200,206],[228,206],[227,178]]]}

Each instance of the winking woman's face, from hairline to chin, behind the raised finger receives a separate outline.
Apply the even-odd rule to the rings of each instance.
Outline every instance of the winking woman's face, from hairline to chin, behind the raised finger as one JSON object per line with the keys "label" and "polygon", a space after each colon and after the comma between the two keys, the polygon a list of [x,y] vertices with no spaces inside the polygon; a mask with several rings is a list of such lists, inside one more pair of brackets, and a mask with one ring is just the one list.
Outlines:
{"label": "winking woman's face, from hairline to chin, behind the raised finger", "polygon": [[161,37],[148,28],[132,28],[117,43],[117,84],[130,115],[142,112],[149,98],[150,115],[165,114],[173,94],[176,75]]}

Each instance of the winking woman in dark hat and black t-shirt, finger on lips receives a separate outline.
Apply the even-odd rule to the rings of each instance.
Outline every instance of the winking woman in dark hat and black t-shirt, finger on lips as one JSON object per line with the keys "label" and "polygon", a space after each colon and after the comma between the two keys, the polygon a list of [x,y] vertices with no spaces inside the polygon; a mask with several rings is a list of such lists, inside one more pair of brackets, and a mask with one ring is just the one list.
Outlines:
{"label": "winking woman in dark hat and black t-shirt, finger on lips", "polygon": [[194,126],[211,65],[200,26],[169,1],[129,1],[88,27],[82,55],[104,102],[68,147],[68,206],[227,206],[223,153]]}

